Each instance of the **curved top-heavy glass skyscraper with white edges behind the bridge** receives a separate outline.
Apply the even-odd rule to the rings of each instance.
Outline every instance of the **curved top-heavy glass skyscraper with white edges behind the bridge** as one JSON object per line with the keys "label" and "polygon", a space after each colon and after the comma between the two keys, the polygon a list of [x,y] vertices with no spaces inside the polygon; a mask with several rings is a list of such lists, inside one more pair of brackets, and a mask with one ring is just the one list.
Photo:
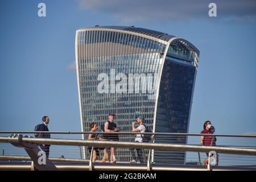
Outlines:
{"label": "curved top-heavy glass skyscraper with white edges behind the bridge", "polygon": [[[198,63],[195,46],[162,32],[124,26],[77,30],[82,131],[89,131],[90,122],[104,123],[113,112],[119,131],[131,131],[131,121],[142,114],[153,132],[187,133]],[[158,151],[154,155],[157,160]],[[184,153],[170,156],[167,162],[184,163]],[[116,157],[128,161],[130,153],[118,150]]]}

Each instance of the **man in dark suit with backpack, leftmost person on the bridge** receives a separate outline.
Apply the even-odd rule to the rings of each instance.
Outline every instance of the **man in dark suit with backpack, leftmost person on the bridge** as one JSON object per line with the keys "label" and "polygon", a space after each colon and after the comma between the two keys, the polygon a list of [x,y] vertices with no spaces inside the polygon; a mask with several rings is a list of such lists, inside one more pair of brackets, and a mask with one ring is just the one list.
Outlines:
{"label": "man in dark suit with backpack, leftmost person on the bridge", "polygon": [[[36,125],[35,131],[49,131],[49,129],[48,129],[49,117],[48,116],[44,116],[42,118],[42,120],[43,120],[43,123],[39,124],[39,125]],[[35,137],[36,138],[51,138],[51,134],[49,134],[49,133],[36,133]],[[49,145],[49,144],[40,144],[40,148],[44,152],[46,152],[47,158],[49,157],[49,147],[50,146],[51,145]]]}

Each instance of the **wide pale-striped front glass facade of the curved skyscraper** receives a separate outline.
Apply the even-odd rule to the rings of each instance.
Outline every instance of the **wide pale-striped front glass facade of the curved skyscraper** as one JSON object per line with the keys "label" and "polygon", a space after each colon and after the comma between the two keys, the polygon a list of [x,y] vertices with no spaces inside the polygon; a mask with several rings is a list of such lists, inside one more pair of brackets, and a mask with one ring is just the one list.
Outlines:
{"label": "wide pale-striped front glass facade of the curved skyscraper", "polygon": [[[146,125],[152,129],[155,100],[148,100],[147,93],[98,93],[97,77],[100,73],[159,73],[165,45],[152,39],[114,31],[80,31],[78,35],[78,71],[83,131],[89,131],[89,123],[100,126],[108,120],[110,112],[115,113],[119,131],[131,131],[131,122],[139,114],[146,118]],[[115,81],[115,85],[118,84]],[[114,90],[115,91],[115,90]],[[119,137],[134,141],[133,137]],[[88,158],[88,151],[85,151]],[[128,161],[128,150],[117,150],[119,161]]]}

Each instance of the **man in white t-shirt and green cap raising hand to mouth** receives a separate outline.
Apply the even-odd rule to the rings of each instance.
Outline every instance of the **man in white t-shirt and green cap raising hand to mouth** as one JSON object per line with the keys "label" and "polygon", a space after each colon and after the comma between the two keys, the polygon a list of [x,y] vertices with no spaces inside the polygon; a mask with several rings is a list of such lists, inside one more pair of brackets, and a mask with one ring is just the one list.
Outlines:
{"label": "man in white t-shirt and green cap raising hand to mouth", "polygon": [[[144,117],[142,115],[139,115],[139,117],[137,118],[137,123],[139,124],[139,126],[137,128],[135,128],[136,121],[134,121],[133,122],[133,132],[144,133],[146,131],[146,127],[143,125],[143,122],[144,122]],[[135,137],[135,142],[143,142],[142,139],[143,139],[143,135],[137,134]],[[130,148],[131,156],[133,158],[130,161],[130,163],[137,163],[134,150],[137,150],[139,162],[143,163],[144,162],[143,161],[143,153],[142,153],[141,148]]]}

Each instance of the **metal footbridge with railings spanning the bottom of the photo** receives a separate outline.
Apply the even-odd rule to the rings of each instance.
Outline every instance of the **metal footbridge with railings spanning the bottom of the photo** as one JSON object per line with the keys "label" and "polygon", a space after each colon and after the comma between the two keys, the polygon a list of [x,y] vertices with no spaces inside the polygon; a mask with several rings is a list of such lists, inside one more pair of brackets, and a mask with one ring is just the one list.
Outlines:
{"label": "metal footbridge with railings spanning the bottom of the photo", "polygon": [[[151,142],[135,143],[131,132],[118,132],[118,142],[87,140],[89,132],[44,132],[50,139],[35,133],[40,131],[0,131],[0,170],[256,170],[256,135],[140,133],[151,135]],[[216,146],[199,145],[202,135],[216,138]],[[51,144],[45,164],[39,164],[40,144]],[[93,163],[88,146],[117,147],[117,163]],[[129,148],[142,148],[144,163],[130,164]],[[209,163],[202,166],[205,153]]]}

